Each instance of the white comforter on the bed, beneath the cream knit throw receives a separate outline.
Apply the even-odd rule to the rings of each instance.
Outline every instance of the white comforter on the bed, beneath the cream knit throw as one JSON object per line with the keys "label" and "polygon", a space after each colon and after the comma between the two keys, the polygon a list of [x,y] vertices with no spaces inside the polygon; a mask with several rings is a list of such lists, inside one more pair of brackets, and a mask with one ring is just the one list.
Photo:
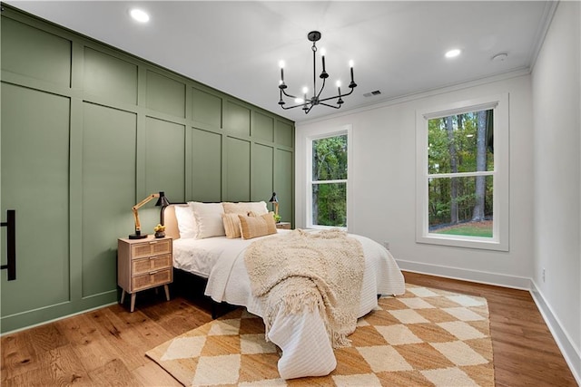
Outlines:
{"label": "white comforter on the bed, beneath the cream knit throw", "polygon": [[[288,230],[279,230],[290,232]],[[269,236],[271,237],[271,236]],[[365,272],[361,286],[359,317],[377,304],[377,295],[402,295],[404,278],[389,251],[368,237],[350,234],[361,243],[365,255]],[[173,242],[173,266],[208,278],[205,294],[216,302],[244,305],[251,314],[262,316],[261,303],[251,295],[251,285],[244,252],[256,239],[178,239]],[[282,355],[278,368],[281,378],[323,376],[337,366],[320,314],[279,316],[268,337]]]}

